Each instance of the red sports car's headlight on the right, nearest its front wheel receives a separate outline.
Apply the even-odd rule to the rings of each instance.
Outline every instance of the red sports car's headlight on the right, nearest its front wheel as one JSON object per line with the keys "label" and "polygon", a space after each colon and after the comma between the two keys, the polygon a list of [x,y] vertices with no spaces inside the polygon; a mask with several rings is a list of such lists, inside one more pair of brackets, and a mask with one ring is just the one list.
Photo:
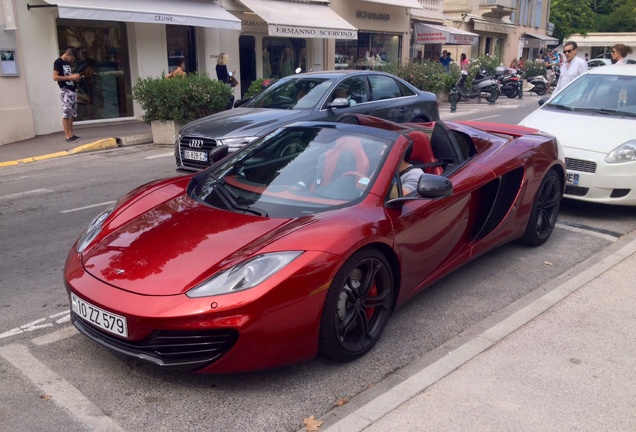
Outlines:
{"label": "red sports car's headlight on the right, nearest its front wheel", "polygon": [[237,264],[192,288],[188,297],[210,297],[254,288],[292,262],[302,251],[277,252],[259,255]]}

